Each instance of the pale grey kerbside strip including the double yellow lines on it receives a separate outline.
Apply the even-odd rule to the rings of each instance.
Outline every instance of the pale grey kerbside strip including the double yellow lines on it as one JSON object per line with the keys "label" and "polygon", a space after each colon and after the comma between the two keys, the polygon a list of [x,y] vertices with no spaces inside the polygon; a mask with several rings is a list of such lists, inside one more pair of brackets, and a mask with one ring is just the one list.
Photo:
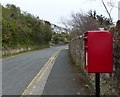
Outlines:
{"label": "pale grey kerbside strip including the double yellow lines on it", "polygon": [[61,50],[56,51],[49,60],[45,63],[43,68],[37,73],[30,84],[27,86],[25,91],[22,93],[21,97],[24,95],[42,95],[43,89],[45,87],[47,78],[50,74],[52,66],[55,62],[57,55]]}

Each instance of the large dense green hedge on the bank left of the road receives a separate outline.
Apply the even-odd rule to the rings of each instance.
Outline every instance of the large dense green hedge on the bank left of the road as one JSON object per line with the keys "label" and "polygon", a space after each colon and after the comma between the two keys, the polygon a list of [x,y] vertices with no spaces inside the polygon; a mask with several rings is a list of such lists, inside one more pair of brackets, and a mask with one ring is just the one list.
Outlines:
{"label": "large dense green hedge on the bank left of the road", "polygon": [[19,7],[2,6],[2,47],[3,49],[49,44],[52,37],[51,24],[40,20]]}

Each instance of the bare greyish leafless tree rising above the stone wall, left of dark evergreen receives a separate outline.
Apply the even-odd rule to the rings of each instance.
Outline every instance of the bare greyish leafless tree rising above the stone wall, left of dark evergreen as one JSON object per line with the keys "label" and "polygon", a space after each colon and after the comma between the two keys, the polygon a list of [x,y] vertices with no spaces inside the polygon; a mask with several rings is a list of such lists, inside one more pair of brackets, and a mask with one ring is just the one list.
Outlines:
{"label": "bare greyish leafless tree rising above the stone wall, left of dark evergreen", "polygon": [[73,30],[78,33],[78,35],[83,34],[88,30],[97,30],[99,28],[99,24],[95,19],[82,12],[73,13],[70,24]]}

